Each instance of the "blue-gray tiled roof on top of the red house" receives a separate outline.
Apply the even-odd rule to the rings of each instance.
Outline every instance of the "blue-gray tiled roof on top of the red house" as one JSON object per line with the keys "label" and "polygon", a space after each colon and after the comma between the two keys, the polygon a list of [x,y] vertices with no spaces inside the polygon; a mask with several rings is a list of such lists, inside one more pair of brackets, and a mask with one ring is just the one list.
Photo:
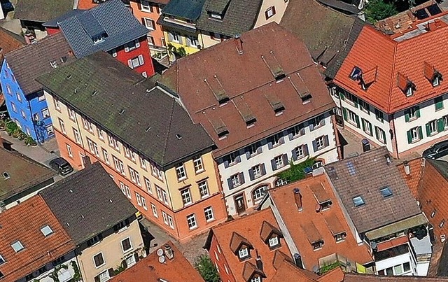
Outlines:
{"label": "blue-gray tiled roof on top of the red house", "polygon": [[[85,57],[98,50],[109,51],[148,34],[120,0],[109,0],[84,13],[76,13],[59,22],[66,40],[76,57]],[[94,44],[92,37],[107,34],[104,41]]]}

